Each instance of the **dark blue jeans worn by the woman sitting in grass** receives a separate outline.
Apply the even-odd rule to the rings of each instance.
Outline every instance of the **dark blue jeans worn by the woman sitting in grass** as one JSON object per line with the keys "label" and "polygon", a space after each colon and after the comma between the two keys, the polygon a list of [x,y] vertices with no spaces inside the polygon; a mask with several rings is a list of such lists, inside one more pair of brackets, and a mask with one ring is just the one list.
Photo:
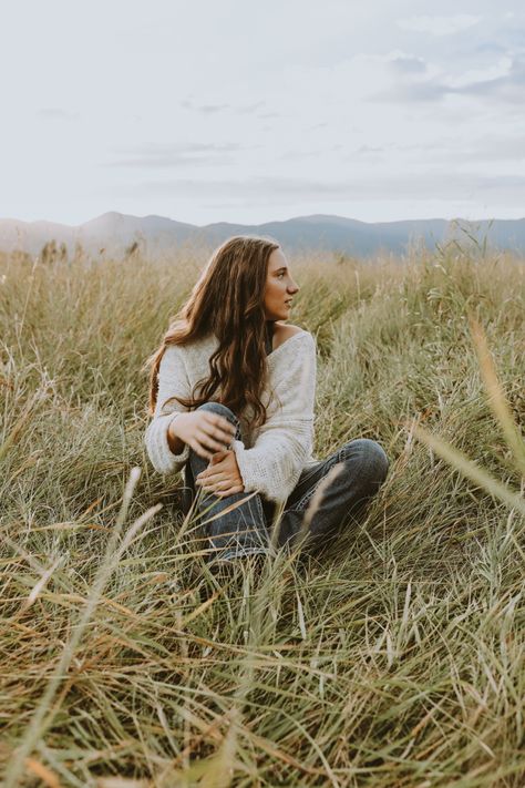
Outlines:
{"label": "dark blue jeans worn by the woman sitting in grass", "polygon": [[[239,421],[229,408],[219,402],[205,402],[199,409],[226,418],[237,428],[236,439],[241,439]],[[343,443],[326,460],[305,468],[285,502],[275,532],[272,522],[278,504],[261,493],[239,492],[220,498],[202,489],[196,490],[194,479],[207,467],[208,460],[191,449],[185,467],[183,510],[187,514],[195,502],[194,511],[199,520],[215,516],[204,525],[213,559],[267,552],[270,543],[276,547],[294,547],[301,542],[307,552],[319,554],[347,524],[363,513],[387,478],[389,460],[379,443],[360,438]],[[251,498],[245,503],[220,514],[249,495]],[[203,513],[206,509],[208,511]]]}

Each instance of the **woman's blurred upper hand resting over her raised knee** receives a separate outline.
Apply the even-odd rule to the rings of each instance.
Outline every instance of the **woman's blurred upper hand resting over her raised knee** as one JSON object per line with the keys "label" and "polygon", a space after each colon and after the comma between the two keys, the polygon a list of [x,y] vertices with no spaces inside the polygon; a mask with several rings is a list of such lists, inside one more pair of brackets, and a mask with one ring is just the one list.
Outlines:
{"label": "woman's blurred upper hand resting over her raised knee", "polygon": [[210,460],[217,451],[227,449],[235,437],[235,427],[224,416],[208,410],[181,413],[169,424],[172,438],[179,438],[199,457]]}

